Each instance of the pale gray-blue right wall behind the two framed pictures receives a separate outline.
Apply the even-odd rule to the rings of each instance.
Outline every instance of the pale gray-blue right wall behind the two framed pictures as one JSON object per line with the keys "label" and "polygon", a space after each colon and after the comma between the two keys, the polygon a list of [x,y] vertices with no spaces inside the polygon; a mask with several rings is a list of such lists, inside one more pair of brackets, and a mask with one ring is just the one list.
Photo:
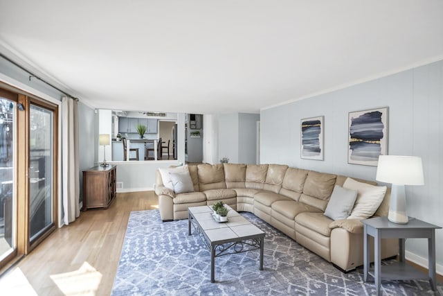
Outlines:
{"label": "pale gray-blue right wall behind the two framed pictures", "polygon": [[[376,167],[347,164],[348,112],[389,107],[388,154],[422,157],[424,186],[406,186],[408,214],[443,226],[443,61],[261,112],[262,163],[288,164],[374,180]],[[325,160],[300,159],[300,119],[325,116]],[[436,231],[443,274],[443,231]],[[406,256],[426,265],[426,239],[408,239]]]}

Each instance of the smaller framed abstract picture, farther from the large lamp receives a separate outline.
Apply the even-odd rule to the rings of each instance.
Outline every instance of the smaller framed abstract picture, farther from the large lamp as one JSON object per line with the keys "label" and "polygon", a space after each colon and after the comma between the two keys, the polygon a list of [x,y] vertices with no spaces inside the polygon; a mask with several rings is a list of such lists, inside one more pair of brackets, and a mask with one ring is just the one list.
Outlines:
{"label": "smaller framed abstract picture, farther from the large lamp", "polygon": [[325,150],[323,142],[324,116],[302,119],[300,127],[300,157],[323,160]]}

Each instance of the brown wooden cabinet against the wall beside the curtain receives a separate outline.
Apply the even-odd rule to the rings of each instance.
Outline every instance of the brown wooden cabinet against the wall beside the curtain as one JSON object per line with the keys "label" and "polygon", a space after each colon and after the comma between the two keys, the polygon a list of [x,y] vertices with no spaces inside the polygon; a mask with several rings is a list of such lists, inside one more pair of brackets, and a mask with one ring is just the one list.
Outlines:
{"label": "brown wooden cabinet against the wall beside the curtain", "polygon": [[94,166],[83,171],[83,211],[105,208],[116,197],[117,166]]}

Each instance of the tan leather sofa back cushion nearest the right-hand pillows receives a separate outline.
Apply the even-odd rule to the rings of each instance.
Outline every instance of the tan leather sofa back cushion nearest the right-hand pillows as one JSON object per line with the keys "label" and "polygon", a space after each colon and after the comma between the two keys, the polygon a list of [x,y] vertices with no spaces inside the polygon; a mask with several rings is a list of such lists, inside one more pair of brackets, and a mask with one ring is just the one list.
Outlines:
{"label": "tan leather sofa back cushion nearest the right-hand pillows", "polygon": [[309,171],[305,186],[303,186],[303,193],[300,196],[300,202],[325,211],[332,190],[334,190],[336,177],[336,175],[328,173]]}

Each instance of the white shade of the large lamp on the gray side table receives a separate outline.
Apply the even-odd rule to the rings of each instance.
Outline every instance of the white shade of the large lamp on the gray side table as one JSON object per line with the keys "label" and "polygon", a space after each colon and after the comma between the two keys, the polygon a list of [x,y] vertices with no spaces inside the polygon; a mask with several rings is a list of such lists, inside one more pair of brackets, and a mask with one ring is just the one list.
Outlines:
{"label": "white shade of the large lamp on the gray side table", "polygon": [[422,157],[380,155],[375,180],[399,185],[423,185]]}

